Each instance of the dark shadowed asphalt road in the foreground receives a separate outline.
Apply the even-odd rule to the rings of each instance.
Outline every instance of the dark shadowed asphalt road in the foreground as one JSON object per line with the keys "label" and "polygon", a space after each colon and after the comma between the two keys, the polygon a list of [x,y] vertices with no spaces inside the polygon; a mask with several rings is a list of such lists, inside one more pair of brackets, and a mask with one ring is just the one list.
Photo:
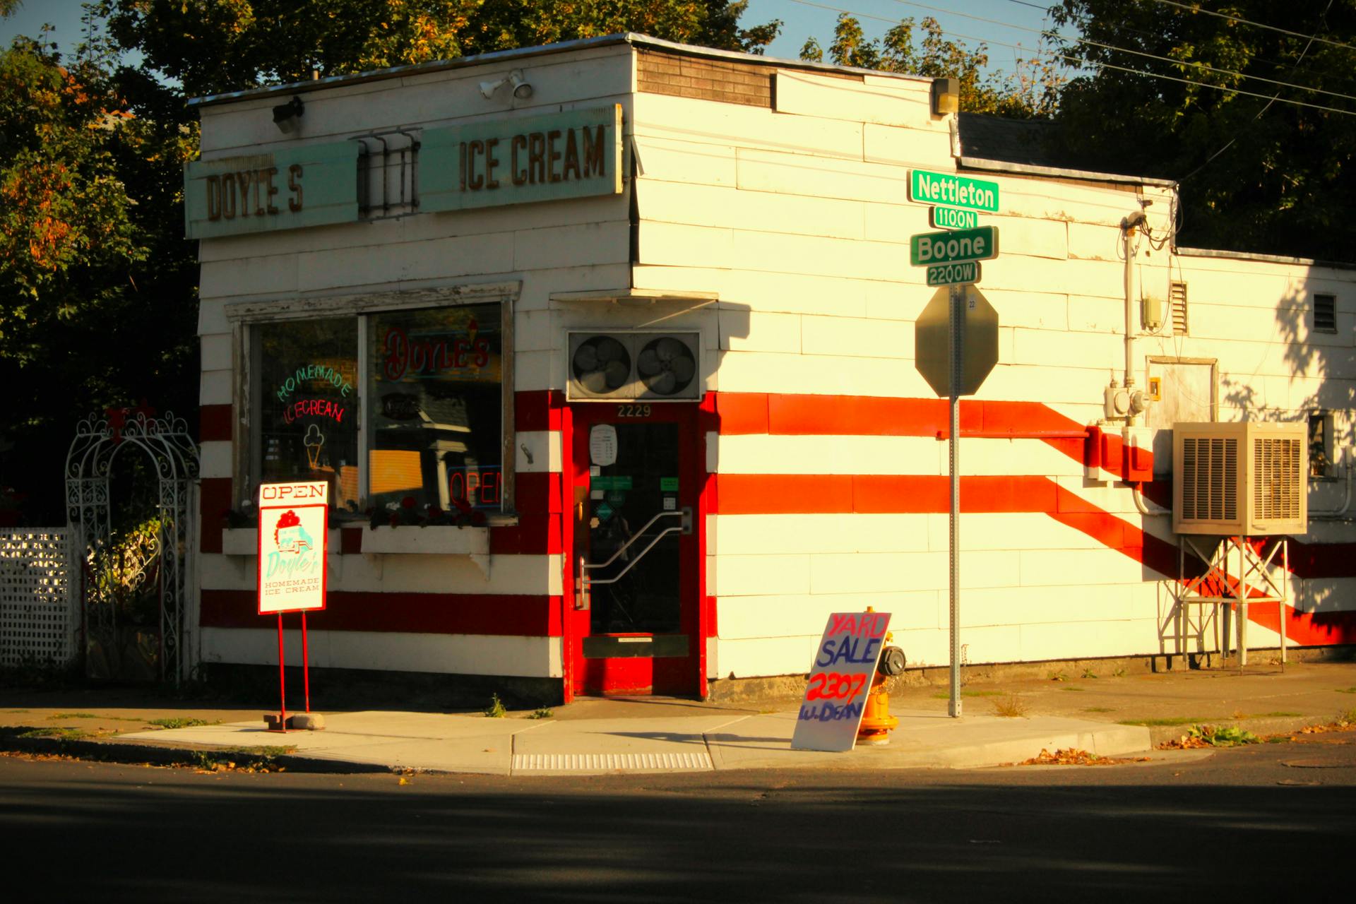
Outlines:
{"label": "dark shadowed asphalt road in the foreground", "polygon": [[31,880],[11,900],[1345,899],[1356,732],[1307,741],[1115,767],[565,779],[4,756],[0,838],[11,889]]}

